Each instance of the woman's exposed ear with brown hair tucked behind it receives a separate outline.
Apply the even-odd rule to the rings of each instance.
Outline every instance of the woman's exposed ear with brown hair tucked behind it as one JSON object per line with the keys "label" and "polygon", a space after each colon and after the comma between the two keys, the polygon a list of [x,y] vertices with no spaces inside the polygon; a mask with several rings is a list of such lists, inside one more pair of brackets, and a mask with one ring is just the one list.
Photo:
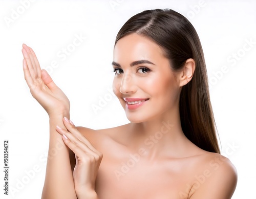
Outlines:
{"label": "woman's exposed ear with brown hair tucked behind it", "polygon": [[180,86],[186,85],[193,77],[196,68],[194,59],[187,59],[180,73]]}

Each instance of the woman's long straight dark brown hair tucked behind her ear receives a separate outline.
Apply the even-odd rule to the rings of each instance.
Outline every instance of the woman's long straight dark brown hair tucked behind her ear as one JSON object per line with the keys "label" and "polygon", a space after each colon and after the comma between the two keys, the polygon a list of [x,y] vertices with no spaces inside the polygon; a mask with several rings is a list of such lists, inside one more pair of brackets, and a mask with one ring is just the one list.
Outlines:
{"label": "woman's long straight dark brown hair tucked behind her ear", "polygon": [[155,9],[145,10],[127,20],[116,36],[115,45],[120,38],[131,33],[156,42],[163,49],[174,72],[182,70],[187,59],[195,60],[193,78],[182,87],[180,94],[182,130],[198,147],[220,153],[203,49],[195,28],[186,17],[174,10]]}

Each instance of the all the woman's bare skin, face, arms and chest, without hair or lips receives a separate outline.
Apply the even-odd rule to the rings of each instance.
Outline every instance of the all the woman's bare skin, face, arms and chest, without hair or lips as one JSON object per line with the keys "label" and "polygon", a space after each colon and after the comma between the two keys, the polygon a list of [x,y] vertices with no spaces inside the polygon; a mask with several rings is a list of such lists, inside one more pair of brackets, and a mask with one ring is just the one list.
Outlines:
{"label": "all the woman's bare skin, face, arms and chest, without hair or lips", "polygon": [[[48,159],[42,198],[231,198],[236,168],[191,143],[181,128],[179,96],[193,77],[193,59],[174,73],[150,39],[135,33],[121,38],[114,48],[113,91],[131,123],[92,130],[75,127],[68,98],[40,69],[32,49],[23,45],[22,51],[25,79],[49,114],[49,150],[60,138],[67,146]],[[151,63],[133,64],[138,60]],[[147,101],[131,110],[124,98]]]}

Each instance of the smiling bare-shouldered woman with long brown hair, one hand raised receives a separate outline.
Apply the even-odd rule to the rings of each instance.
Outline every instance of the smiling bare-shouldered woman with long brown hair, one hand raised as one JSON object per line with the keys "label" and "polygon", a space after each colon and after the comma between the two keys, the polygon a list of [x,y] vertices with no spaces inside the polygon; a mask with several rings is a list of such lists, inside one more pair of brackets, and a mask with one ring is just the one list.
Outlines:
{"label": "smiling bare-shouldered woman with long brown hair, one hand raised", "polygon": [[50,118],[42,198],[231,198],[236,168],[219,154],[201,43],[184,16],[147,10],[120,29],[113,91],[131,123],[114,128],[75,127],[68,98],[33,50],[22,52]]}

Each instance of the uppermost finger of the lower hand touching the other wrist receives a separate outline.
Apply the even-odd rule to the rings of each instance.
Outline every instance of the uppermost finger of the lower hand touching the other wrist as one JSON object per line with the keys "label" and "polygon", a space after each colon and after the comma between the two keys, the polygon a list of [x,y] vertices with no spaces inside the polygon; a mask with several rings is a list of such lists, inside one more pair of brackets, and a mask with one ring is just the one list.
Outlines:
{"label": "uppermost finger of the lower hand touching the other wrist", "polygon": [[86,144],[91,150],[98,152],[98,150],[96,148],[94,148],[94,146],[92,145],[92,143],[86,138],[84,137],[79,130],[77,130],[77,128],[75,127],[74,124],[72,124],[70,122],[70,120],[67,117],[63,118],[63,123],[66,126],[67,130],[69,132],[71,132],[71,134],[73,134],[77,139],[79,139],[82,143]]}

